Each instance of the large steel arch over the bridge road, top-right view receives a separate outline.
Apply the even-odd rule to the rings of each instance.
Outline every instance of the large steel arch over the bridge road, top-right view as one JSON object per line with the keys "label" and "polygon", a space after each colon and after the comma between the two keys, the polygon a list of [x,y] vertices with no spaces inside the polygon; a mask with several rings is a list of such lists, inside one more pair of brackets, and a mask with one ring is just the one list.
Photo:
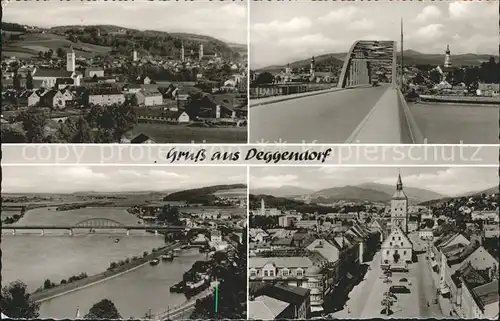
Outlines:
{"label": "large steel arch over the bridge road, top-right view", "polygon": [[392,84],[396,84],[396,42],[358,40],[353,43],[342,66],[338,88],[370,85],[373,79],[373,63],[391,70]]}

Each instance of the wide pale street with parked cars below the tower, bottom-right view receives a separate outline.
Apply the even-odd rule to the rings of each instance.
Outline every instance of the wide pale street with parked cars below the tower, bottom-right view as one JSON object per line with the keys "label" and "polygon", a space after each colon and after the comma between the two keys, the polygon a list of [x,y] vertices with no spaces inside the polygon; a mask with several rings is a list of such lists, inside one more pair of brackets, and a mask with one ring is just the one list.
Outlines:
{"label": "wide pale street with parked cars below the tower, bottom-right view", "polygon": [[[406,284],[410,293],[396,294],[397,300],[392,306],[394,314],[391,318],[446,318],[438,304],[433,304],[436,295],[436,288],[430,270],[426,266],[425,255],[419,256],[419,261],[410,265],[408,273],[394,273],[391,283],[384,283],[382,269],[380,268],[380,253],[377,253],[370,263],[370,270],[365,275],[364,280],[353,289],[347,302],[347,311],[340,311],[334,314],[338,318],[387,318],[381,314],[383,309],[381,304],[384,292],[389,290],[389,286],[396,284]],[[401,282],[401,278],[406,278],[411,283]],[[430,306],[427,306],[427,302]]]}

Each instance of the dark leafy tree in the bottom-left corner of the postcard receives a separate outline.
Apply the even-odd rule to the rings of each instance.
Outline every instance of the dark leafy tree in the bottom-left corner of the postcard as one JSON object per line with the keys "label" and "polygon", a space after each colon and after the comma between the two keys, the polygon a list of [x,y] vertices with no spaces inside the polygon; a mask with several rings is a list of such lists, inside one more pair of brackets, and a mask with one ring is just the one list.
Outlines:
{"label": "dark leafy tree in the bottom-left corner of the postcard", "polygon": [[40,315],[40,303],[30,298],[27,286],[22,281],[15,281],[2,287],[0,310],[9,318],[36,319]]}

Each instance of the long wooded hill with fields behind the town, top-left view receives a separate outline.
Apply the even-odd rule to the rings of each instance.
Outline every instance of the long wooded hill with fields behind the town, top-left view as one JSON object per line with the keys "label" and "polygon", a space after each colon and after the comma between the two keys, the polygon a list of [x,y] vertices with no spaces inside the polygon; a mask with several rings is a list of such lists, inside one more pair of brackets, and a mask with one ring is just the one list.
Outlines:
{"label": "long wooded hill with fields behind the town, top-left view", "polygon": [[[9,29],[12,29],[11,25]],[[136,49],[140,55],[165,57],[179,56],[184,44],[187,55],[193,51],[198,54],[199,44],[203,43],[204,53],[230,59],[238,59],[241,48],[229,46],[219,39],[189,33],[168,33],[156,30],[137,30],[113,25],[94,26],[57,26],[43,30],[43,33],[23,33],[20,39],[3,43],[2,53],[6,55],[36,56],[40,51],[73,46],[77,55],[123,54],[130,55]],[[246,50],[245,50],[246,52]]]}

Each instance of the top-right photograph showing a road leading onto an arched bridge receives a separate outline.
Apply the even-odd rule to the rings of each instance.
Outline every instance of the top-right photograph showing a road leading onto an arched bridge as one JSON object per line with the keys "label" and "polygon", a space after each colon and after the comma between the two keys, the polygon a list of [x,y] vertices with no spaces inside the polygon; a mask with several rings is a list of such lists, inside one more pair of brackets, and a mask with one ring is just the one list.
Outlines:
{"label": "top-right photograph showing a road leading onto an arched bridge", "polygon": [[498,144],[498,1],[250,12],[251,143]]}

